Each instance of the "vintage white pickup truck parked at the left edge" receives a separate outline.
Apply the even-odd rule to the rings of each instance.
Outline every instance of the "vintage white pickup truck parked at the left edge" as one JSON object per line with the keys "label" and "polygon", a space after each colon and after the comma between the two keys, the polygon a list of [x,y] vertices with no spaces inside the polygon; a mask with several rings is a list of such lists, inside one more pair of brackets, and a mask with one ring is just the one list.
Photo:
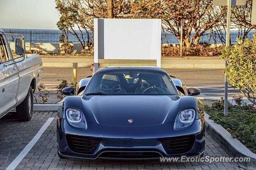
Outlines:
{"label": "vintage white pickup truck parked at the left edge", "polygon": [[[12,55],[6,35],[15,39]],[[42,79],[42,60],[38,54],[25,55],[25,40],[20,34],[5,34],[0,29],[0,118],[16,108],[20,121],[29,121],[33,112],[33,92]]]}

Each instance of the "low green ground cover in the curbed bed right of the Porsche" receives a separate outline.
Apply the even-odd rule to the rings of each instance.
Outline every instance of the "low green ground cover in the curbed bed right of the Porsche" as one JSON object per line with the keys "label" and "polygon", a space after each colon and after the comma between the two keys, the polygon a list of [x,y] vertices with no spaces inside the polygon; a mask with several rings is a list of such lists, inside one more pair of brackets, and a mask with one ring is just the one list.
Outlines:
{"label": "low green ground cover in the curbed bed right of the Porsche", "polygon": [[256,109],[253,105],[248,105],[240,101],[240,99],[234,99],[240,105],[230,105],[229,113],[224,116],[223,101],[214,102],[209,107],[204,106],[205,112],[210,115],[215,123],[224,127],[233,138],[237,138],[252,152],[256,153]]}

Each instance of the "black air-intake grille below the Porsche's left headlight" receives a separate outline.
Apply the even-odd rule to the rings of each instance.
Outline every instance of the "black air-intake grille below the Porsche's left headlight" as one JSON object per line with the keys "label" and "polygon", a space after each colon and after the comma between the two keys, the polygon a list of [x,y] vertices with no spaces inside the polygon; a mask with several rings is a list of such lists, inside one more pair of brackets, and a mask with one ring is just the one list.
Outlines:
{"label": "black air-intake grille below the Porsche's left headlight", "polygon": [[67,134],[66,139],[68,142],[68,147],[79,153],[89,153],[91,152],[100,142],[98,138],[91,138],[86,136],[78,136]]}

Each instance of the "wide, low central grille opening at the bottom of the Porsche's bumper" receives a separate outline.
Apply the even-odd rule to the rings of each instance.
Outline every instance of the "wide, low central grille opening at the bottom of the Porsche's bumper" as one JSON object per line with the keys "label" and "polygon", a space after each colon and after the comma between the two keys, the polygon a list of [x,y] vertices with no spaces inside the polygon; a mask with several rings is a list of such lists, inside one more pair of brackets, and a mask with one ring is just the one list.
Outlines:
{"label": "wide, low central grille opening at the bottom of the Porsche's bumper", "polygon": [[99,158],[126,158],[126,159],[145,159],[159,158],[161,155],[157,152],[103,152]]}

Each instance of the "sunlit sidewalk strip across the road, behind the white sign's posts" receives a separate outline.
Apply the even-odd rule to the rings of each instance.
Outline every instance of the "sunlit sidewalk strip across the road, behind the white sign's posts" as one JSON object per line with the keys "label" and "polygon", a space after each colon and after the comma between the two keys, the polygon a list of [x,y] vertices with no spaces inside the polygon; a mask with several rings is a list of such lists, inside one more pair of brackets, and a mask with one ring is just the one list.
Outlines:
{"label": "sunlit sidewalk strip across the road, behind the white sign's posts", "polygon": [[[90,67],[94,62],[89,57],[42,57],[44,67],[72,67],[72,63],[78,63],[78,67]],[[100,67],[110,66],[156,66],[156,60],[142,59],[138,62],[135,59],[99,59]],[[224,68],[225,61],[218,56],[213,57],[162,57],[162,68]]]}

